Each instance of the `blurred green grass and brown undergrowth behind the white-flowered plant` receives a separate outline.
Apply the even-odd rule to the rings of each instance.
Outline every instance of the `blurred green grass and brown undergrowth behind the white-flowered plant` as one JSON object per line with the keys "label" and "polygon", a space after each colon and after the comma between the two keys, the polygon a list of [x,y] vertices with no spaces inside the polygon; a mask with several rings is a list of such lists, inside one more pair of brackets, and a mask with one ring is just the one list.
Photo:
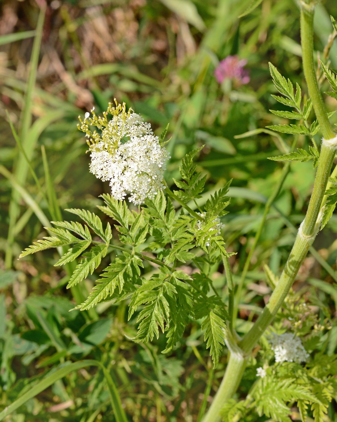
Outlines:
{"label": "blurred green grass and brown undergrowth behind the white-flowered plant", "polygon": [[[275,100],[270,95],[274,88],[268,61],[294,84],[303,86],[296,2],[264,0],[252,14],[238,19],[249,3],[53,0],[48,2],[45,15],[41,13],[42,0],[1,4],[3,407],[49,371],[90,358],[101,361],[110,371],[130,420],[200,419],[199,410],[213,395],[226,365],[224,355],[217,369],[212,369],[200,325],[189,326],[172,354],[160,354],[162,338],[146,345],[128,341],[136,316],[126,322],[124,303],[116,306],[106,302],[91,311],[68,312],[86,297],[85,289],[91,290],[95,274],[78,289],[67,290],[70,268],[53,267],[55,251],[21,261],[17,257],[45,235],[43,227],[49,226],[50,220],[69,218],[64,208],[95,211],[101,203],[99,195],[109,192],[107,184],[88,172],[87,145],[76,122],[79,114],[92,106],[99,113],[116,97],[150,121],[156,133],[170,124],[169,184],[178,177],[184,154],[203,144],[198,167],[208,176],[209,192],[234,179],[229,192],[233,198],[230,214],[223,222],[227,251],[238,252],[230,258],[238,284],[265,203],[281,176],[283,165],[267,157],[283,154],[284,146],[292,143],[291,135],[281,138],[264,129],[287,122],[269,112],[275,108]],[[315,37],[320,57],[332,32],[330,14],[337,17],[334,2],[317,7]],[[218,84],[214,69],[229,54],[248,60],[249,84]],[[336,41],[330,60],[331,67],[337,68]],[[329,111],[333,111],[336,100],[328,97],[327,101]],[[332,119],[337,122],[337,118]],[[240,136],[246,132],[249,134]],[[297,146],[307,145],[308,139],[298,138]],[[239,304],[237,328],[241,333],[246,332],[270,293],[263,265],[279,274],[289,254],[294,226],[302,221],[308,205],[313,176],[312,162],[293,163],[268,211]],[[337,308],[336,233],[334,215],[324,234],[316,238],[293,288],[304,295],[317,324],[331,321],[329,333],[311,338],[313,347],[328,354],[337,346],[333,320]],[[109,256],[104,262],[108,261]],[[151,271],[150,265],[145,271]],[[222,292],[222,269],[213,277]],[[254,365],[253,358],[238,397],[253,383]],[[333,402],[328,420],[337,421],[335,413]],[[299,420],[296,412],[293,416]],[[253,415],[247,420],[267,419]],[[102,371],[82,368],[29,400],[7,420],[110,422],[114,416]]]}

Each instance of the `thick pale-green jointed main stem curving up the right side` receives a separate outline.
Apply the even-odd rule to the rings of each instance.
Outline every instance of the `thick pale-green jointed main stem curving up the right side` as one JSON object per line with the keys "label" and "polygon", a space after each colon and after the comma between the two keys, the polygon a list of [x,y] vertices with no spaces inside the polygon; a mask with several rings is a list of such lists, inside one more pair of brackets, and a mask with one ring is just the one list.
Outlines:
{"label": "thick pale-green jointed main stem curving up the right side", "polygon": [[[321,132],[324,139],[334,138],[331,130],[326,108],[318,89],[316,80],[316,72],[313,61],[313,4],[301,3],[301,43],[302,43],[302,60],[304,75],[308,85],[310,97],[313,101],[313,108],[316,112],[318,122],[321,126]],[[298,270],[302,265],[304,258],[308,253],[308,249],[313,243],[316,233],[319,229],[320,218],[319,212],[326,190],[326,184],[331,172],[332,162],[335,156],[337,145],[322,143],[321,154],[318,161],[318,169],[316,173],[313,193],[310,198],[308,211],[300,225],[299,231],[295,238],[294,246],[286,262],[281,278],[278,281],[269,302],[265,306],[262,314],[249,332],[243,337],[238,344],[237,351],[230,354],[230,359],[226,368],[224,379],[214,397],[211,407],[206,414],[203,422],[218,422],[221,420],[220,410],[226,400],[228,400],[238,388],[241,381],[244,362],[259,338],[264,333],[275,317],[276,312],[281,307],[289,289],[297,276]]]}

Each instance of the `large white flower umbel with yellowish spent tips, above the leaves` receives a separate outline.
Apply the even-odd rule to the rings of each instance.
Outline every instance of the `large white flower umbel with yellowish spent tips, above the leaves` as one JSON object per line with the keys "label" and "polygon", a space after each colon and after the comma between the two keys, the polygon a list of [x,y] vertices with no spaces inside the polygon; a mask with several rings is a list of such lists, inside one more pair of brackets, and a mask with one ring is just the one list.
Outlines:
{"label": "large white flower umbel with yellowish spent tips, above the leaves", "polygon": [[[115,107],[109,103],[102,116],[87,112],[85,119],[79,116],[78,129],[86,133],[91,164],[90,171],[102,181],[110,180],[111,195],[123,200],[130,192],[129,201],[135,205],[153,199],[163,189],[163,173],[168,151],[160,146],[158,136],[153,135],[150,123],[125,103]],[[88,121],[90,123],[88,123]],[[97,127],[93,132],[89,126]]]}

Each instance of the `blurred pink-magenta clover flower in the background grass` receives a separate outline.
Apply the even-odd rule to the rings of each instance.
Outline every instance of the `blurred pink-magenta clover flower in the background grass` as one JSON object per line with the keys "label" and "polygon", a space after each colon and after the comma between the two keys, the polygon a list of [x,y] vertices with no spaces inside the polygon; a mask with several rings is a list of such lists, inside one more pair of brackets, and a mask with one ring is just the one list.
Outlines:
{"label": "blurred pink-magenta clover flower in the background grass", "polygon": [[214,75],[219,84],[222,84],[225,79],[232,79],[238,85],[248,84],[250,80],[249,73],[243,69],[246,64],[247,60],[239,60],[238,56],[227,56],[219,62]]}

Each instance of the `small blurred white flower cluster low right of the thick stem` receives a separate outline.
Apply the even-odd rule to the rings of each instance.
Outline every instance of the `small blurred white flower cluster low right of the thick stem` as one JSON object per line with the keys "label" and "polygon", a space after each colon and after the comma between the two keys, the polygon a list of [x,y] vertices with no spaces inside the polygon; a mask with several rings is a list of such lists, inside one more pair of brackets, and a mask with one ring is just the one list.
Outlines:
{"label": "small blurred white flower cluster low right of the thick stem", "polygon": [[309,354],[302,345],[299,337],[292,333],[274,334],[269,339],[271,349],[275,354],[275,362],[306,362]]}

